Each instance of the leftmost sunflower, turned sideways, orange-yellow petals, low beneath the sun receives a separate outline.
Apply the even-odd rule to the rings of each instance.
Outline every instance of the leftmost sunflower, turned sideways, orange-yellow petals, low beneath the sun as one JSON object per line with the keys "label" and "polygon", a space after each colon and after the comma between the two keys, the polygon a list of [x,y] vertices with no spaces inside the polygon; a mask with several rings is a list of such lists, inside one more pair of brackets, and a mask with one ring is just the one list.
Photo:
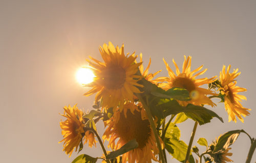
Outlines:
{"label": "leftmost sunflower, turned sideways, orange-yellow petals, low beneath the sun", "polygon": [[64,122],[60,122],[60,128],[62,129],[61,134],[63,135],[63,140],[59,143],[63,142],[63,151],[66,154],[70,154],[71,156],[74,148],[76,148],[82,141],[84,135],[84,124],[83,124],[83,112],[80,111],[76,105],[70,107],[63,107],[64,114],[61,115],[66,117],[67,120]]}

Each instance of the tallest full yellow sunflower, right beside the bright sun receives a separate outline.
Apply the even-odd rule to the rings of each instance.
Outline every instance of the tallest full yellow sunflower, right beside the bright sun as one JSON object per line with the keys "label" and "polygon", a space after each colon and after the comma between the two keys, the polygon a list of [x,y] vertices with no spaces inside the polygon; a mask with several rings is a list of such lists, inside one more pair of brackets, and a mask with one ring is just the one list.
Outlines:
{"label": "tallest full yellow sunflower, right beside the bright sun", "polygon": [[93,88],[84,95],[98,92],[95,101],[102,98],[102,107],[116,108],[120,103],[122,108],[124,100],[133,101],[133,93],[141,93],[136,87],[143,87],[137,83],[141,76],[136,72],[142,63],[135,63],[135,53],[125,56],[123,48],[124,45],[119,49],[109,42],[109,45],[103,44],[103,48],[99,48],[104,63],[92,57],[90,59],[94,62],[87,60],[96,77],[90,84]]}

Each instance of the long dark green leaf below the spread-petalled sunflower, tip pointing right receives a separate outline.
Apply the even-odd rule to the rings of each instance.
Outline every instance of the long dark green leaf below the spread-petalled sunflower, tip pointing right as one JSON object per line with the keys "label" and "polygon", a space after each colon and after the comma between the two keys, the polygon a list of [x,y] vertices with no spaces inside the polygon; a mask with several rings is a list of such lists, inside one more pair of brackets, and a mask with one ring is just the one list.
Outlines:
{"label": "long dark green leaf below the spread-petalled sunflower, tip pointing right", "polygon": [[197,121],[200,125],[210,122],[213,117],[216,117],[223,122],[222,118],[215,112],[208,110],[203,106],[197,106],[190,103],[187,106],[181,106],[176,100],[172,99],[169,101],[161,100],[158,106],[163,111],[165,117],[183,112],[188,118]]}

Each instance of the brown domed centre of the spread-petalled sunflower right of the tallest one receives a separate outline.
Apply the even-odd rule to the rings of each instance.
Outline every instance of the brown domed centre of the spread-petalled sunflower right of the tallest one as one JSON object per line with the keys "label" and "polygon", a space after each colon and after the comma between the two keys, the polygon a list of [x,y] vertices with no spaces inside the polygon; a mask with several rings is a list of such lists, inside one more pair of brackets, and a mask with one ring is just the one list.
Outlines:
{"label": "brown domed centre of the spread-petalled sunflower right of the tallest one", "polygon": [[185,88],[188,92],[191,92],[196,89],[194,82],[187,77],[179,77],[173,81],[173,87]]}

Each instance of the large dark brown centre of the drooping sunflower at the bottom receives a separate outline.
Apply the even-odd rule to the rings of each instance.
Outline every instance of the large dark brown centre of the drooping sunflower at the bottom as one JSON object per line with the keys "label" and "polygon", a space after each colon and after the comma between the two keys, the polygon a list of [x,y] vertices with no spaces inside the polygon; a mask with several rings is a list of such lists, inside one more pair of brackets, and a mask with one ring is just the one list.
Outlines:
{"label": "large dark brown centre of the drooping sunflower at the bottom", "polygon": [[120,119],[116,123],[116,132],[125,143],[136,139],[139,144],[138,148],[143,148],[151,135],[150,122],[142,120],[140,112],[134,111],[132,114],[130,110],[127,110],[127,118],[124,117],[123,112],[120,113]]}

